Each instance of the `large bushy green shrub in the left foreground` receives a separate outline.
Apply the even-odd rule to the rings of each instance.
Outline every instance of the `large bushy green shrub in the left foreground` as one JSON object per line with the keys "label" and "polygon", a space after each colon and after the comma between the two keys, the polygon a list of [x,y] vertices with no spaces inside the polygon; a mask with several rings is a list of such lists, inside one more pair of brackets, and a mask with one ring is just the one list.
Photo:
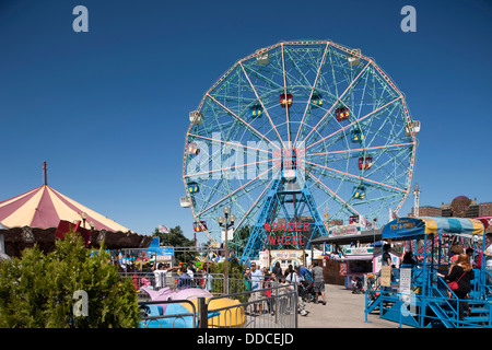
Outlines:
{"label": "large bushy green shrub in the left foreground", "polygon": [[[0,264],[0,327],[138,327],[139,306],[129,279],[120,279],[104,248],[87,249],[69,233],[44,255],[37,246]],[[87,295],[89,315],[75,316],[75,291]]]}

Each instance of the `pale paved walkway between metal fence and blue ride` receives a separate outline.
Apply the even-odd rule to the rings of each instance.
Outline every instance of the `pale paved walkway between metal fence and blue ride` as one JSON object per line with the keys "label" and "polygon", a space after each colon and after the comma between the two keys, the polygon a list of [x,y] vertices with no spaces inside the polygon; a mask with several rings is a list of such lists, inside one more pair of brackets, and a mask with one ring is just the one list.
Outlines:
{"label": "pale paved walkway between metal fence and blue ride", "polygon": [[[398,328],[399,324],[364,315],[365,294],[352,294],[343,285],[325,284],[326,305],[306,303],[307,316],[298,316],[298,328]],[[321,298],[318,299],[321,301]],[[402,325],[402,328],[411,328]]]}

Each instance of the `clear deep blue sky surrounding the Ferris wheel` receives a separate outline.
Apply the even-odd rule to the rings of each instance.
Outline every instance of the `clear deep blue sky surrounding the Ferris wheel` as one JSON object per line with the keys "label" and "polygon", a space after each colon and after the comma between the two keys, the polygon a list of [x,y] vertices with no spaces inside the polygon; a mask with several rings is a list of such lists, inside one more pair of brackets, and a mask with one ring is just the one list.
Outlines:
{"label": "clear deep blue sky surrounding the Ferris wheel", "polygon": [[[79,4],[89,33],[72,30]],[[400,30],[406,4],[415,33]],[[192,237],[188,113],[236,60],[294,39],[361,48],[405,92],[422,122],[421,206],[492,201],[489,0],[1,0],[0,200],[43,185],[46,160],[66,196],[141,234]]]}

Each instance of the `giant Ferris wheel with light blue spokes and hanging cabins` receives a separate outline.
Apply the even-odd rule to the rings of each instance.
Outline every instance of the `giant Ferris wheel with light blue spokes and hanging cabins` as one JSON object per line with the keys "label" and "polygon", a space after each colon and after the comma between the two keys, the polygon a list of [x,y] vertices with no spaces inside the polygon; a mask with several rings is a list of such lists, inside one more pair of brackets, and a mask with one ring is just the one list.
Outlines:
{"label": "giant Ferris wheel with light blue spokes and hanging cabins", "polygon": [[266,209],[272,190],[292,190],[282,203],[293,203],[296,218],[314,217],[315,207],[327,221],[363,215],[375,226],[409,195],[420,124],[359,49],[330,40],[259,49],[226,71],[189,118],[180,203],[212,242],[221,241],[225,206],[236,233],[261,215],[288,218],[280,205]]}

